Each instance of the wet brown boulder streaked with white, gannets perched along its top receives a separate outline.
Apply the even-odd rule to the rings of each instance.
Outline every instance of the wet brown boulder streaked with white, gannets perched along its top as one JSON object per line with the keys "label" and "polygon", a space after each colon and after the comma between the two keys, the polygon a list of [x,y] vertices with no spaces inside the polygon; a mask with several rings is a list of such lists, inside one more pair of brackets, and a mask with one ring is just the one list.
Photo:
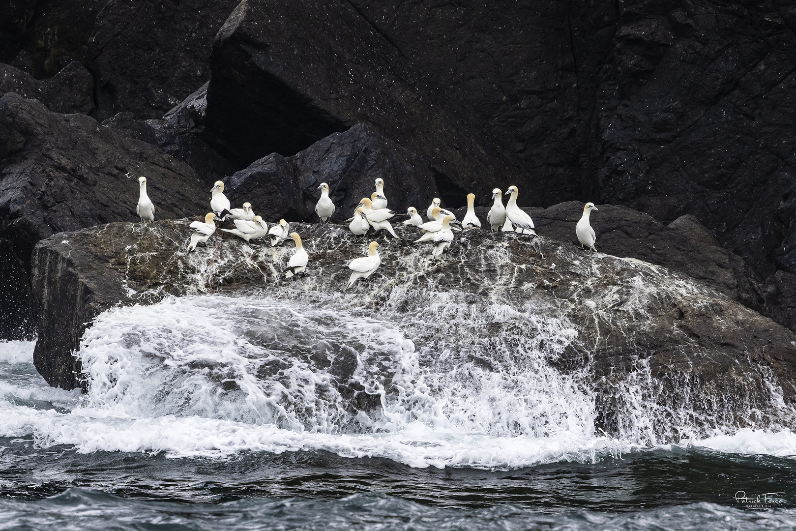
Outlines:
{"label": "wet brown boulder streaked with white, gannets perched along its top", "polygon": [[[380,268],[344,293],[346,264],[362,256],[367,240],[340,225],[292,226],[310,263],[305,276],[286,281],[292,244],[247,244],[217,233],[188,255],[188,223],[103,225],[37,244],[33,283],[41,319],[34,360],[47,381],[81,385],[74,352],[92,317],[112,306],[169,295],[259,294],[291,307],[348,301],[368,318],[413,330],[423,364],[463,364],[499,380],[506,372],[517,377],[513,364],[535,360],[534,371],[573,392],[591,389],[596,428],[610,434],[661,443],[721,426],[794,423],[786,414],[796,400],[796,335],[665,267],[485,230],[462,232],[442,260],[431,260],[431,245],[412,244],[417,229],[402,225],[400,239],[379,237]],[[389,353],[377,351],[369,355],[387,357],[380,366],[388,373],[380,378],[384,400],[393,400],[400,388],[390,384]],[[301,362],[314,364],[315,356]],[[371,369],[379,367],[365,367]],[[361,388],[340,374],[334,386]]]}

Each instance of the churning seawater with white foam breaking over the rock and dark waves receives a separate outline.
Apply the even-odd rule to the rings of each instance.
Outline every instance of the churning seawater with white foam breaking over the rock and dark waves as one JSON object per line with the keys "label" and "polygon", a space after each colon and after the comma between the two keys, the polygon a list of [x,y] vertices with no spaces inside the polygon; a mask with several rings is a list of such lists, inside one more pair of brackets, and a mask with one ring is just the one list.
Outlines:
{"label": "churning seawater with white foam breaking over the rock and dark waves", "polygon": [[0,343],[0,529],[796,527],[790,431],[661,443],[639,378],[606,434],[572,323],[432,299],[109,310],[84,394]]}

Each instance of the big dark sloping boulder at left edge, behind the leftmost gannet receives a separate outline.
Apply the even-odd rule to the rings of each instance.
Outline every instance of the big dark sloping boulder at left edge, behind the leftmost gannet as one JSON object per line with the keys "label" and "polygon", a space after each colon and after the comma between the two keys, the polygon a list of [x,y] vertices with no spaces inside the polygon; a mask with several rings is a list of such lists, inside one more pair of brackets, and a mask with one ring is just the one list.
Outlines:
{"label": "big dark sloping boulder at left edge, behind the leftmost gannet", "polygon": [[30,335],[29,261],[38,240],[64,230],[137,219],[138,177],[155,217],[206,213],[196,174],[168,155],[115,135],[86,115],[61,115],[16,92],[0,98],[0,337]]}

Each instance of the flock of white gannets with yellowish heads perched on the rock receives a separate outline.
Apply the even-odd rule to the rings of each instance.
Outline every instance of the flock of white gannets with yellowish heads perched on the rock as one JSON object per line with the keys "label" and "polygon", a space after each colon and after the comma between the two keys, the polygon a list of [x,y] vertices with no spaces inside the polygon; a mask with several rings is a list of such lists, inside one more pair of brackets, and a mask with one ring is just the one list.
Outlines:
{"label": "flock of white gannets with yellowish heads perched on the rock", "polygon": [[[334,214],[334,202],[329,197],[329,185],[322,182],[318,186],[321,190],[321,198],[318,204],[315,205],[315,213],[318,214],[322,223],[329,221],[329,218]],[[213,212],[205,216],[205,221],[193,221],[190,228],[193,228],[191,234],[191,241],[188,245],[188,252],[193,251],[197,244],[204,244],[213,232],[216,232],[216,222],[218,218],[221,221],[231,220],[235,224],[235,228],[220,228],[221,231],[229,232],[235,236],[249,241],[257,240],[259,238],[268,237],[271,240],[271,246],[279,245],[283,240],[292,238],[295,241],[295,253],[291,256],[291,260],[287,263],[285,269],[285,278],[289,279],[306,271],[306,264],[309,262],[310,257],[302,247],[301,236],[297,232],[290,232],[290,224],[285,220],[279,220],[278,224],[272,225],[270,228],[262,217],[257,216],[252,211],[251,203],[244,203],[243,208],[231,209],[229,200],[224,195],[224,182],[217,181],[210,190],[210,209]],[[490,224],[493,231],[501,232],[519,232],[521,234],[536,234],[534,231],[533,220],[523,209],[517,206],[518,196],[517,186],[509,186],[505,195],[509,197],[509,201],[503,205],[503,193],[500,189],[492,190],[492,198],[494,204],[486,215],[486,220]],[[423,222],[423,217],[419,215],[417,209],[410,206],[406,212],[408,219],[404,221],[404,225],[414,225],[420,229],[420,237],[414,243],[431,242],[434,248],[431,251],[431,259],[439,259],[443,252],[451,246],[454,240],[454,231],[462,231],[469,228],[481,228],[481,221],[475,215],[475,194],[467,194],[467,212],[462,221],[458,221],[450,210],[443,209],[440,206],[439,197],[435,197],[431,201],[426,210],[427,222]],[[396,216],[396,213],[387,208],[387,197],[384,195],[384,180],[376,179],[376,191],[373,192],[371,197],[363,197],[362,200],[354,209],[353,217],[346,220],[349,223],[349,230],[355,236],[365,237],[370,229],[374,232],[385,230],[393,237],[399,238],[390,224],[390,219]],[[136,207],[141,221],[154,221],[154,205],[150,201],[149,196],[146,195],[146,178],[139,178],[139,204]],[[591,225],[589,225],[589,214],[592,210],[597,210],[593,203],[587,203],[583,206],[583,216],[578,221],[576,226],[576,234],[580,242],[581,248],[588,248],[591,251],[596,251],[596,235]],[[351,269],[351,277],[346,285],[346,289],[351,287],[357,279],[368,278],[373,271],[376,271],[381,264],[381,258],[377,247],[379,244],[372,241],[368,248],[368,255],[361,258],[352,260],[349,264]]]}

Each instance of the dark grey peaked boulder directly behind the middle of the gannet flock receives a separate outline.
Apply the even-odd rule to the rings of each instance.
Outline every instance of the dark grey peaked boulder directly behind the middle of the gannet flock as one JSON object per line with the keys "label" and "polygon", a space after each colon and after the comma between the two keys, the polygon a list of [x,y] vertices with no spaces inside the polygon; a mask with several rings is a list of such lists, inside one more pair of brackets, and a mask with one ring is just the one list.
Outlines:
{"label": "dark grey peaked boulder directly behind the middle of the gannet flock", "polygon": [[332,221],[342,221],[362,197],[370,197],[377,178],[384,179],[388,206],[396,212],[429,205],[438,193],[431,171],[416,154],[358,124],[292,157],[260,158],[228,178],[227,196],[236,206],[251,202],[266,220],[311,221],[318,219],[318,185],[326,182],[336,206]]}

